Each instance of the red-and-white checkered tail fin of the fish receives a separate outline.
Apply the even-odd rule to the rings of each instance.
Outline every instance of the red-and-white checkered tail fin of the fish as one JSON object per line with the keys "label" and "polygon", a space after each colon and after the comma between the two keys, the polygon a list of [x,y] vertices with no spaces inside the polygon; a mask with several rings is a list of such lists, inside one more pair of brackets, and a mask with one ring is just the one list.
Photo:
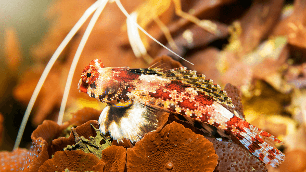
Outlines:
{"label": "red-and-white checkered tail fin of the fish", "polygon": [[237,139],[255,156],[257,156],[265,164],[270,164],[276,167],[285,159],[285,155],[274,147],[275,143],[285,145],[275,136],[256,128],[247,123],[242,128],[240,134],[237,134]]}

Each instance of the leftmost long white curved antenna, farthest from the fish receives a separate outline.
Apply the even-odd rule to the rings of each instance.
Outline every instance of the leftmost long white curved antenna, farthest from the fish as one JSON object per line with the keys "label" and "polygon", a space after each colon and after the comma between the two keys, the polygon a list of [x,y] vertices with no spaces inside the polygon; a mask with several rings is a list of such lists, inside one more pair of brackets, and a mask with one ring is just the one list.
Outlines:
{"label": "leftmost long white curved antenna, farthest from the fish", "polygon": [[95,2],[94,4],[92,4],[83,14],[83,16],[80,18],[79,21],[76,22],[76,24],[73,26],[73,28],[70,30],[70,32],[68,33],[68,35],[65,37],[65,39],[63,40],[63,42],[58,46],[58,48],[55,50],[53,56],[50,58],[50,61],[48,62],[46,68],[43,71],[43,74],[41,75],[35,90],[32,94],[32,97],[30,99],[30,102],[28,104],[27,109],[25,110],[24,113],[24,117],[22,119],[18,134],[17,134],[17,138],[15,141],[15,145],[13,149],[16,149],[19,147],[23,132],[24,132],[24,128],[25,125],[28,122],[31,110],[33,108],[33,105],[35,103],[35,100],[38,96],[39,91],[41,90],[43,83],[45,82],[48,73],[50,72],[52,66],[54,65],[54,62],[56,61],[56,59],[58,58],[58,56],[62,53],[63,49],[66,47],[66,45],[69,43],[69,41],[71,40],[71,38],[76,34],[76,32],[80,29],[80,27],[84,24],[84,22],[87,20],[87,18],[98,8],[99,3]]}

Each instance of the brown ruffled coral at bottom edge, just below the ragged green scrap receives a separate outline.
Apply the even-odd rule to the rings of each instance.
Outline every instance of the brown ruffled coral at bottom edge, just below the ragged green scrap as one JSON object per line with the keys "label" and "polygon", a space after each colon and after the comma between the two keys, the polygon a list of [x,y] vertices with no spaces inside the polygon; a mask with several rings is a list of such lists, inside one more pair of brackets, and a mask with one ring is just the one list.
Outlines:
{"label": "brown ruffled coral at bottom edge, just below the ragged green scrap", "polygon": [[39,167],[38,171],[103,171],[104,162],[82,150],[58,151]]}

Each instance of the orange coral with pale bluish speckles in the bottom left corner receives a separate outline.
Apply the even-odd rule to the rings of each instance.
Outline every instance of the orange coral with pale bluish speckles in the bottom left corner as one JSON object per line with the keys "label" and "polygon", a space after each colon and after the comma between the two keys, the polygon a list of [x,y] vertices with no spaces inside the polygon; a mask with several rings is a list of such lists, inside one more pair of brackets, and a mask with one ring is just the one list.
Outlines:
{"label": "orange coral with pale bluish speckles in the bottom left corner", "polygon": [[47,142],[39,137],[32,141],[29,150],[18,148],[0,153],[0,171],[37,171],[38,167],[49,158]]}

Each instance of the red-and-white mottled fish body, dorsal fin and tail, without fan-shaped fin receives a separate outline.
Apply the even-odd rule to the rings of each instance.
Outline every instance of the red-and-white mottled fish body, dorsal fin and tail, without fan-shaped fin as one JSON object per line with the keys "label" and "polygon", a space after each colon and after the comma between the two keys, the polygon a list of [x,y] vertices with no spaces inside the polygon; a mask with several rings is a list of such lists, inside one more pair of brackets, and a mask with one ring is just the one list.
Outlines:
{"label": "red-and-white mottled fish body, dorsal fin and tail, without fan-shaped fin", "polygon": [[[160,72],[158,68],[105,68],[101,64],[95,59],[85,67],[78,84],[81,92],[101,102],[137,100],[148,107],[184,115],[233,134],[266,164],[276,167],[284,161],[285,155],[274,147],[275,143],[283,143],[223,107],[221,104],[234,107],[226,92],[212,80],[205,80],[204,75],[196,75],[195,70]],[[93,73],[93,80],[87,73]]]}

